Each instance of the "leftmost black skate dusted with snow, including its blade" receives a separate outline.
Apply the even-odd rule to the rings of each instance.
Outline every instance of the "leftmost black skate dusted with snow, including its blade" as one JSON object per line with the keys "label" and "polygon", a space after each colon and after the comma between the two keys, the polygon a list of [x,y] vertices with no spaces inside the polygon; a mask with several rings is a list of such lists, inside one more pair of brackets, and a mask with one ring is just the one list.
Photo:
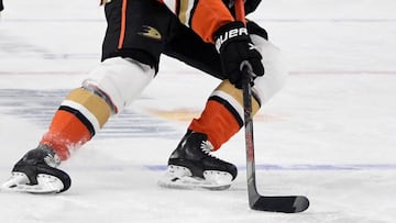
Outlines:
{"label": "leftmost black skate dusted with snow, including its blade", "polygon": [[61,160],[46,145],[28,152],[13,167],[1,189],[15,192],[57,193],[70,187],[69,176],[56,167]]}

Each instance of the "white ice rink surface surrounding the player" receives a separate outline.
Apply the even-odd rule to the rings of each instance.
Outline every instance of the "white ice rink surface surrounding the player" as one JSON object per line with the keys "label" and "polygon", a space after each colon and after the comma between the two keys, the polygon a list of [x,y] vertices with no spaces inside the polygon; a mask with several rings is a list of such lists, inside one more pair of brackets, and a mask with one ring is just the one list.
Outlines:
{"label": "white ice rink surface surrounding the player", "polygon": [[[0,180],[36,146],[67,92],[100,59],[96,0],[6,0],[0,21]],[[10,222],[396,221],[396,2],[263,0],[250,15],[282,48],[286,87],[254,119],[263,194],[305,194],[300,214],[248,207],[244,136],[216,155],[239,176],[227,191],[160,188],[169,153],[218,80],[162,57],[142,97],[65,164],[56,196],[0,192]]]}

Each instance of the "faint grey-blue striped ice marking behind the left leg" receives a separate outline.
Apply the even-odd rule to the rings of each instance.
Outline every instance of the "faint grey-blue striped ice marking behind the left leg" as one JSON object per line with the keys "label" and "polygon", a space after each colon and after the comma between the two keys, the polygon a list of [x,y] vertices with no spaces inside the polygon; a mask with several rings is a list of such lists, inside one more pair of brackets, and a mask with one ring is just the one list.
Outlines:
{"label": "faint grey-blue striped ice marking behind the left leg", "polygon": [[[34,122],[46,127],[68,89],[0,89],[0,113]],[[141,97],[140,100],[151,100]],[[34,108],[34,109],[32,109]],[[109,120],[97,133],[96,138],[158,137],[179,138],[177,130],[169,122],[143,112],[125,108],[119,119]]]}

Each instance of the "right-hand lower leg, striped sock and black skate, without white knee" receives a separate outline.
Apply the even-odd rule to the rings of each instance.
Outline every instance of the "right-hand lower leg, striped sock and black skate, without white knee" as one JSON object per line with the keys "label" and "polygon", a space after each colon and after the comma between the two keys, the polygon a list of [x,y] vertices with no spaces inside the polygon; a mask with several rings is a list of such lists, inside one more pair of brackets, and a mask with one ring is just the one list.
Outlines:
{"label": "right-hand lower leg, striped sock and black skate, without white knee", "polygon": [[[243,126],[242,91],[224,80],[210,96],[199,119],[168,159],[161,185],[167,187],[227,189],[235,179],[233,164],[211,155]],[[260,108],[254,100],[254,111]],[[167,180],[167,181],[166,181]]]}

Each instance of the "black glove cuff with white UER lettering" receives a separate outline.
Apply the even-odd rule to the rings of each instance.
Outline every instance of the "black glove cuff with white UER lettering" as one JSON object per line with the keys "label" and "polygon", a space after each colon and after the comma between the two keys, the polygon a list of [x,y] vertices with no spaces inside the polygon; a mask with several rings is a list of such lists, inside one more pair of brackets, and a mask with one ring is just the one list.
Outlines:
{"label": "black glove cuff with white UER lettering", "polygon": [[250,41],[248,29],[242,22],[230,22],[215,32],[216,49],[220,53],[222,48],[234,41]]}

